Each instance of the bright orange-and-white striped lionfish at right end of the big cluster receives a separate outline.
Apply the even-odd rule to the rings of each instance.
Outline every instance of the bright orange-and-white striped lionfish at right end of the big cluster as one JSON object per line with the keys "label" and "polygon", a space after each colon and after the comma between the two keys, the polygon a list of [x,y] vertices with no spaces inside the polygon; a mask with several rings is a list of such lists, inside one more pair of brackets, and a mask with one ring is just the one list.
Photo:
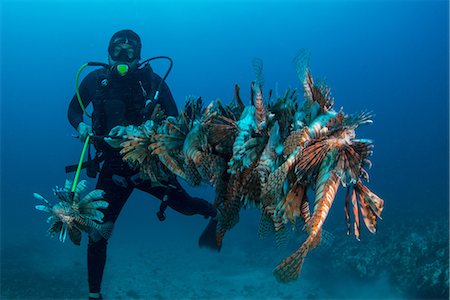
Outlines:
{"label": "bright orange-and-white striped lionfish at right end of the big cluster", "polygon": [[[313,82],[306,66],[307,56],[301,52],[294,60],[299,79],[303,83],[305,104],[302,111],[302,128],[292,132],[286,140],[289,157],[280,167],[280,178],[273,178],[269,186],[277,186],[280,180],[291,177],[291,189],[277,203],[274,215],[284,223],[295,222],[301,217],[308,234],[301,247],[283,260],[274,275],[281,282],[295,280],[308,251],[321,240],[322,226],[328,215],[340,185],[347,187],[345,204],[347,234],[350,232],[349,202],[353,206],[354,234],[359,240],[359,212],[371,233],[376,232],[376,220],[380,218],[384,202],[371,192],[362,180],[368,180],[366,169],[372,155],[373,143],[356,139],[355,129],[372,123],[370,113],[345,115],[332,110],[334,99],[330,89]],[[289,150],[288,150],[289,149]],[[274,172],[273,174],[276,174]],[[306,187],[315,193],[312,214],[306,198]],[[351,196],[350,196],[351,194]]]}

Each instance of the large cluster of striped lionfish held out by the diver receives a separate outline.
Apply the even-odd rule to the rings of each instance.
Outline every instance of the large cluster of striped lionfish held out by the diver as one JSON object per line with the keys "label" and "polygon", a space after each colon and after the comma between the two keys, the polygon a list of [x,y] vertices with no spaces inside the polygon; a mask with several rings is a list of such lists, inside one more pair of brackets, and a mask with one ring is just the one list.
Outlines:
{"label": "large cluster of striped lionfish held out by the diver", "polygon": [[[374,233],[384,204],[363,184],[369,179],[373,143],[355,134],[360,125],[372,123],[371,114],[334,111],[330,89],[313,81],[308,61],[307,51],[294,59],[304,91],[301,107],[296,90],[276,100],[270,91],[269,100],[264,101],[262,62],[255,60],[250,105],[243,104],[238,86],[228,105],[217,100],[203,108],[201,98],[188,98],[180,116],[167,118],[144,140],[129,137],[122,150],[124,159],[135,164],[139,144],[137,148],[157,155],[187,182],[215,187],[219,248],[244,207],[260,209],[260,237],[274,232],[279,245],[287,238],[288,225],[303,223],[306,240],[274,271],[281,282],[295,280],[308,251],[320,244],[322,226],[341,185],[347,188],[347,234],[351,204],[358,240],[360,214]],[[308,199],[308,190],[314,193],[314,201]]]}

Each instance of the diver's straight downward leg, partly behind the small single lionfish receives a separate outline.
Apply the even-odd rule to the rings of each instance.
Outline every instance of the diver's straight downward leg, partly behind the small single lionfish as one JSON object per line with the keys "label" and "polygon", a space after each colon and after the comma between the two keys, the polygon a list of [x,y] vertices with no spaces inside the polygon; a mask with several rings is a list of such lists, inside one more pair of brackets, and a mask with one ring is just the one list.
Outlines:
{"label": "diver's straight downward leg, partly behind the small single lionfish", "polygon": [[[114,182],[112,176],[114,174],[109,170],[107,162],[103,165],[100,172],[97,189],[101,189],[105,192],[105,200],[109,205],[106,209],[102,210],[105,214],[103,222],[115,222],[120,214],[125,202],[129,198],[133,188],[122,187]],[[89,238],[88,243],[88,281],[89,281],[89,293],[100,293],[103,271],[106,263],[106,248],[108,241],[101,238],[98,241],[94,241]]]}

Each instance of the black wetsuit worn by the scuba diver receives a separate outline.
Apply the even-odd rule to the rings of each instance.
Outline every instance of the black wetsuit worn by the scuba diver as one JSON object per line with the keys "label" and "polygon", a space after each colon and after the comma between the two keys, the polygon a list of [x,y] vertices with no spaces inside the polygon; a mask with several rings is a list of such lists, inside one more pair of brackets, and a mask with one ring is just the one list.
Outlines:
{"label": "black wetsuit worn by the scuba diver", "polygon": [[[155,90],[161,77],[153,73],[149,66],[129,74],[126,78],[116,78],[106,69],[99,69],[89,73],[80,84],[80,96],[84,106],[92,102],[93,130],[96,135],[107,135],[116,125],[140,125],[146,117],[144,106],[146,99],[153,99]],[[158,104],[166,115],[178,114],[175,101],[166,83],[161,86]],[[156,103],[150,104],[150,110]],[[68,110],[69,121],[74,128],[83,121],[83,112],[76,96],[73,97]],[[152,186],[151,181],[143,181],[137,185],[130,181],[130,177],[138,171],[131,169],[123,162],[118,149],[110,147],[104,141],[96,142],[98,151],[103,152],[105,161],[97,181],[97,189],[105,191],[105,199],[109,206],[104,210],[104,222],[115,222],[124,204],[134,188],[148,192],[163,200],[172,209],[184,214],[200,214],[213,217],[216,214],[213,206],[206,200],[191,197],[173,177],[168,183],[171,187]],[[117,178],[122,179],[118,184]],[[103,270],[106,262],[107,240],[94,242],[89,239],[88,244],[88,277],[91,293],[100,292]]]}

